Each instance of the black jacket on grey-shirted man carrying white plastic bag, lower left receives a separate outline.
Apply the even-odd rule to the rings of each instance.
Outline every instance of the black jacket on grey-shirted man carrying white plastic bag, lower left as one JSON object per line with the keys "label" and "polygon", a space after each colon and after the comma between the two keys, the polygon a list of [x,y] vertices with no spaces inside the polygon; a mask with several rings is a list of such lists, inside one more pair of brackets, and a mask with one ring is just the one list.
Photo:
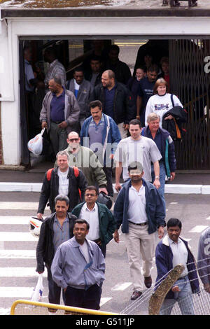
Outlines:
{"label": "black jacket on grey-shirted man carrying white plastic bag, lower left", "polygon": [[[36,272],[43,272],[44,271],[44,263],[45,265],[50,268],[52,264],[52,260],[55,254],[55,250],[53,247],[53,223],[55,221],[56,213],[51,214],[43,221],[40,230],[40,236],[38,239],[38,244],[36,246]],[[77,217],[72,215],[71,213],[67,213],[66,216],[69,218],[69,233],[70,239],[73,237],[73,224],[76,221]]]}

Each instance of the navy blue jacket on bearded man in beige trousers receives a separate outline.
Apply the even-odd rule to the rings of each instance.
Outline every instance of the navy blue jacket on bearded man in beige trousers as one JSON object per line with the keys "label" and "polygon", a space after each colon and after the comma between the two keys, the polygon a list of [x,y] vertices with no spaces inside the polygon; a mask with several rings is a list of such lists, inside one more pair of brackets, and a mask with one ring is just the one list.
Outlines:
{"label": "navy blue jacket on bearded man in beige trousers", "polygon": [[[142,179],[143,185],[145,186],[145,197],[146,197],[146,214],[148,218],[148,234],[154,233],[160,225],[165,226],[165,208],[162,203],[160,194],[157,188],[148,181]],[[116,218],[117,228],[120,228],[123,233],[129,232],[129,222],[127,219],[127,210],[129,206],[129,190],[131,181],[127,181],[121,188],[118,194],[115,206],[114,206],[114,217]]]}

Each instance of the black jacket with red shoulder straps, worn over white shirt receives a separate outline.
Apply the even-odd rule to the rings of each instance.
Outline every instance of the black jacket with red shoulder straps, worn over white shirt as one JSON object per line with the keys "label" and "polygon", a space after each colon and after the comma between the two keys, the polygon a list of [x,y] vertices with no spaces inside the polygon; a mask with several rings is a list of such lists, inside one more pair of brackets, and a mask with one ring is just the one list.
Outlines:
{"label": "black jacket with red shoulder straps, worn over white shirt", "polygon": [[[41,188],[41,195],[39,197],[38,213],[44,213],[48,200],[51,212],[55,212],[55,197],[59,194],[59,176],[57,175],[57,169],[58,168],[52,170],[50,181],[47,179],[47,172],[45,173],[45,178]],[[84,200],[85,188],[87,187],[85,175],[80,171],[80,169],[78,170],[79,175],[76,178],[73,168],[69,167],[69,174],[67,176],[67,179],[69,179],[69,211],[76,207],[80,201]],[[81,192],[81,200],[78,189],[80,189]]]}

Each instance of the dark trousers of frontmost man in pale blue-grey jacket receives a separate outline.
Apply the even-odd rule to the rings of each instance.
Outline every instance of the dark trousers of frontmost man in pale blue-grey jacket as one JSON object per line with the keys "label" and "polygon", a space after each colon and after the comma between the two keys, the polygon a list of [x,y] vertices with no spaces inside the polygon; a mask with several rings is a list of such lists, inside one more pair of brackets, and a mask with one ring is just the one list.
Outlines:
{"label": "dark trousers of frontmost man in pale blue-grey jacket", "polygon": [[67,287],[65,305],[83,309],[100,309],[101,289],[97,284],[87,290]]}

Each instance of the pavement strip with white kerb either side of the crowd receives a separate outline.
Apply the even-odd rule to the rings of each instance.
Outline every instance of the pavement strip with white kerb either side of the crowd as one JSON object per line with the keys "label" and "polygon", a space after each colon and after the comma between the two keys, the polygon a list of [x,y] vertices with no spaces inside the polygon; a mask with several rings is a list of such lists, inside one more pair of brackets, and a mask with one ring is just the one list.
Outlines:
{"label": "pavement strip with white kerb either side of the crowd", "polygon": [[[29,170],[21,166],[0,166],[0,192],[40,192],[44,174],[53,165],[34,162]],[[174,181],[166,182],[165,193],[209,195],[210,171],[177,171]]]}

